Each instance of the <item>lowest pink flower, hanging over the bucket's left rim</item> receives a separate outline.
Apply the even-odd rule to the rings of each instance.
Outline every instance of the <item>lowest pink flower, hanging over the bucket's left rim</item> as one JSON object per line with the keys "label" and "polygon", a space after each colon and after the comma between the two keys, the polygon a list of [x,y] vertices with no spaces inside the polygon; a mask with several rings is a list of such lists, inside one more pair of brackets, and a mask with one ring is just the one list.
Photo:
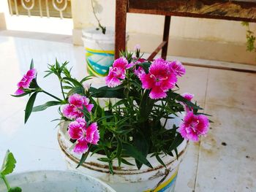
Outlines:
{"label": "lowest pink flower, hanging over the bucket's left rim", "polygon": [[69,124],[69,136],[76,139],[77,143],[74,148],[75,153],[85,153],[88,150],[88,144],[97,145],[99,142],[99,131],[97,123],[91,123],[87,127],[86,120],[78,118]]}

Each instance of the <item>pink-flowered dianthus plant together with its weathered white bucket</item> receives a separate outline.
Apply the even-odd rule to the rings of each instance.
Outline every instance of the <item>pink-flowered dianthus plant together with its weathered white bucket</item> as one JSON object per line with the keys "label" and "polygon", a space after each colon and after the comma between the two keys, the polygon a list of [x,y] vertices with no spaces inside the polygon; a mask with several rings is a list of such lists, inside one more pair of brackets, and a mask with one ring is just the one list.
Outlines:
{"label": "pink-flowered dianthus plant together with its weathered white bucket", "polygon": [[[30,95],[25,123],[31,112],[59,105],[59,145],[69,168],[97,177],[116,191],[173,191],[178,165],[187,140],[197,142],[208,131],[209,120],[193,95],[178,91],[178,78],[185,74],[178,61],[140,58],[140,50],[122,53],[105,77],[107,86],[76,80],[64,64],[49,65],[63,98],[37,84],[31,69],[18,83],[15,96]],[[33,107],[37,94],[53,98]],[[181,120],[182,119],[182,120]]]}

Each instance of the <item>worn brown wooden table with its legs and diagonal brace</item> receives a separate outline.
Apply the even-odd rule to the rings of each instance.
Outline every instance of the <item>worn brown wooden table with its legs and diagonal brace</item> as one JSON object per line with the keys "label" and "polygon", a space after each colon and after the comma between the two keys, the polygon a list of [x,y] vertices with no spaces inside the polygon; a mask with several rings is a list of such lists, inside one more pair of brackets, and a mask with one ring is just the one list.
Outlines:
{"label": "worn brown wooden table with its legs and diagonal brace", "polygon": [[256,22],[256,0],[116,0],[115,58],[125,50],[127,12],[165,15],[162,42],[149,56],[151,61],[161,49],[166,58],[171,16]]}

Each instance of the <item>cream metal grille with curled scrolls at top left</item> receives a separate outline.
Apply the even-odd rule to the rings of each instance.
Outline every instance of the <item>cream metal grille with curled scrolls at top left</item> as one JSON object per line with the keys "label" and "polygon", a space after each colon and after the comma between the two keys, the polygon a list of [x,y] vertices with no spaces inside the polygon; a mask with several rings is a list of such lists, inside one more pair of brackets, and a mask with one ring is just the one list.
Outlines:
{"label": "cream metal grille with curled scrolls at top left", "polygon": [[72,18],[70,0],[7,0],[10,15]]}

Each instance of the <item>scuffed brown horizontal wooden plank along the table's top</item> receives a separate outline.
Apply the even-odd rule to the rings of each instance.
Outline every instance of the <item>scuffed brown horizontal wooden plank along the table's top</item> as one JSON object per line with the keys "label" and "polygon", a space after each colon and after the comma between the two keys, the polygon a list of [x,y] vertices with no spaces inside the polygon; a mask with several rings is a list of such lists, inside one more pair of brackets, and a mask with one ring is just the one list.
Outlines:
{"label": "scuffed brown horizontal wooden plank along the table's top", "polygon": [[256,22],[256,1],[129,0],[128,12]]}

